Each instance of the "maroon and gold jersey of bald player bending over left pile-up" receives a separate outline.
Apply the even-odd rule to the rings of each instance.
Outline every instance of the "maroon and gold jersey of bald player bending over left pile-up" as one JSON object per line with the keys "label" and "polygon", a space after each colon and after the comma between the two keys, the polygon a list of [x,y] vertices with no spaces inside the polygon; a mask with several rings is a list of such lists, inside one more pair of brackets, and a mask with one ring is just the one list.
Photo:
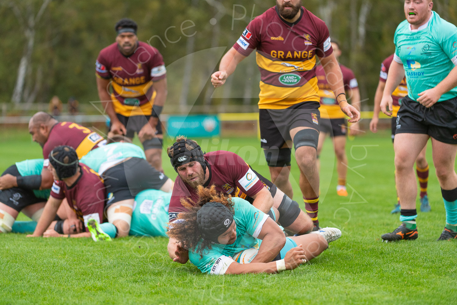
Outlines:
{"label": "maroon and gold jersey of bald player bending over left pile-up", "polygon": [[49,137],[43,145],[43,167],[49,165],[49,153],[60,145],[68,145],[76,150],[78,158],[90,150],[105,145],[106,140],[100,134],[73,122],[59,122],[49,132]]}

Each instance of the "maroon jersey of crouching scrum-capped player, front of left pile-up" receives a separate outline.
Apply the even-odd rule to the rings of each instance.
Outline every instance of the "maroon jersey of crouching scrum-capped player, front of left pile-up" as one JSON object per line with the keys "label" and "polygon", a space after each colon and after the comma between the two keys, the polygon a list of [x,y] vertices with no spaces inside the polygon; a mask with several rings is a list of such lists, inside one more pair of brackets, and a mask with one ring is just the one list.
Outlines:
{"label": "maroon jersey of crouching scrum-capped player, front of left pile-up", "polygon": [[61,200],[67,198],[78,219],[84,221],[87,232],[87,220],[93,218],[99,224],[106,220],[103,215],[106,188],[103,179],[88,166],[80,163],[80,172],[80,177],[71,187],[67,187],[63,181],[54,180],[51,197]]}

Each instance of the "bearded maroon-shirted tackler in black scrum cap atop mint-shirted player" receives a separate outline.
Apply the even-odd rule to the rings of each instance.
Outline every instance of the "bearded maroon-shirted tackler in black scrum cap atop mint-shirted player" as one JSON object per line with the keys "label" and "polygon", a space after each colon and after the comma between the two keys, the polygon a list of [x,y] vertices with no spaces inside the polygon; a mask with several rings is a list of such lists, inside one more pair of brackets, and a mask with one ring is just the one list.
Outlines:
{"label": "bearded maroon-shirted tackler in black scrum cap atop mint-shirted player", "polygon": [[[198,201],[197,187],[215,185],[218,192],[232,197],[244,198],[266,214],[272,207],[279,212],[278,223],[292,233],[306,234],[313,230],[313,222],[279,188],[253,170],[239,155],[218,150],[203,153],[196,141],[184,136],[167,149],[171,164],[178,173],[170,201],[170,221],[187,209],[182,206],[182,198]],[[168,252],[172,259],[180,246],[170,238]],[[186,254],[178,262],[186,263]]]}

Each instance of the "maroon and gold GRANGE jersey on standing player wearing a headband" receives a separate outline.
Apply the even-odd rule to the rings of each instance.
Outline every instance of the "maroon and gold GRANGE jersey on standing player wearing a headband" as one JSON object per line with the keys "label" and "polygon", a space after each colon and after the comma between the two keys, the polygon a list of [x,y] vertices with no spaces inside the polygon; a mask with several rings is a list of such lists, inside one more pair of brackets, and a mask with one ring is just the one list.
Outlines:
{"label": "maroon and gold GRANGE jersey on standing player wearing a headband", "polygon": [[166,77],[166,69],[159,50],[147,43],[139,41],[130,56],[123,55],[113,43],[98,54],[96,75],[112,79],[114,110],[129,117],[151,114],[155,97],[152,84]]}

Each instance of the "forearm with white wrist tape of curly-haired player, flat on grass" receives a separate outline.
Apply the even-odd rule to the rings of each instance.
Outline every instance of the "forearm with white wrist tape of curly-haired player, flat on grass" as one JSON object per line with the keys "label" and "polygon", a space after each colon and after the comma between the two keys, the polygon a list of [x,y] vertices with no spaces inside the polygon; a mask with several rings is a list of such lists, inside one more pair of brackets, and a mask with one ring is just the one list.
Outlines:
{"label": "forearm with white wrist tape of curly-haired player, flat on grass", "polygon": [[243,274],[243,273],[280,273],[284,270],[292,270],[307,261],[305,251],[302,245],[287,251],[286,256],[276,262],[251,262],[249,264],[239,264],[232,262],[228,266],[225,274]]}

